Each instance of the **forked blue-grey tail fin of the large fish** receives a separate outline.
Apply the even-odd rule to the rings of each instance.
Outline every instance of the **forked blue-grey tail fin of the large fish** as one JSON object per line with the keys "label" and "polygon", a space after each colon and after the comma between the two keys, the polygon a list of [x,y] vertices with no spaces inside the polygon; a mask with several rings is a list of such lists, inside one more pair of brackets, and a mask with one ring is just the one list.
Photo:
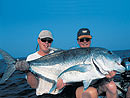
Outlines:
{"label": "forked blue-grey tail fin of the large fish", "polygon": [[0,54],[2,55],[3,59],[5,60],[7,67],[4,71],[4,74],[2,76],[2,79],[0,80],[0,84],[4,83],[16,70],[15,63],[16,60],[9,55],[6,51],[0,49]]}

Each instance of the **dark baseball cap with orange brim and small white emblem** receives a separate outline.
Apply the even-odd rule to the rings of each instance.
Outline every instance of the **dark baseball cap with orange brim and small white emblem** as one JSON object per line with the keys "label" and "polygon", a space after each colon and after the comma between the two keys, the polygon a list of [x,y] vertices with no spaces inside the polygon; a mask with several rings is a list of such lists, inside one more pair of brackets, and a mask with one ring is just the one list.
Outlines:
{"label": "dark baseball cap with orange brim and small white emblem", "polygon": [[79,31],[77,33],[77,39],[81,39],[81,38],[90,38],[90,39],[92,39],[92,36],[90,35],[90,30],[87,29],[87,28],[79,29]]}

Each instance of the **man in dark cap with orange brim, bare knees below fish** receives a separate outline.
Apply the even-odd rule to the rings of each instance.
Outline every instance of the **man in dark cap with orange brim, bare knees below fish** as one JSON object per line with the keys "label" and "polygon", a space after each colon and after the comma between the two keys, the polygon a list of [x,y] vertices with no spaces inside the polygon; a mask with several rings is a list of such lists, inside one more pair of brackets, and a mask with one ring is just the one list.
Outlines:
{"label": "man in dark cap with orange brim, bare knees below fish", "polygon": [[[87,28],[82,28],[77,33],[77,43],[81,48],[90,47],[92,36]],[[117,88],[112,81],[112,77],[115,76],[116,72],[112,71],[106,78],[101,79],[98,83],[91,85],[86,91],[83,91],[83,86],[76,89],[76,98],[97,98],[98,94],[106,92],[107,98],[117,98]],[[95,85],[98,85],[95,87]]]}

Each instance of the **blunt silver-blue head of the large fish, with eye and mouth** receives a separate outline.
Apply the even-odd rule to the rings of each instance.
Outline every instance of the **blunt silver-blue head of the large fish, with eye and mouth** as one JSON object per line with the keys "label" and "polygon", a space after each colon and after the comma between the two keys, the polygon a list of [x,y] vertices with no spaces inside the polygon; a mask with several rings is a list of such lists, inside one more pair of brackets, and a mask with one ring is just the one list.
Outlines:
{"label": "blunt silver-blue head of the large fish, with eye and mouth", "polygon": [[121,58],[107,49],[99,49],[93,54],[93,63],[97,65],[102,73],[116,71],[122,73],[125,67],[121,65]]}

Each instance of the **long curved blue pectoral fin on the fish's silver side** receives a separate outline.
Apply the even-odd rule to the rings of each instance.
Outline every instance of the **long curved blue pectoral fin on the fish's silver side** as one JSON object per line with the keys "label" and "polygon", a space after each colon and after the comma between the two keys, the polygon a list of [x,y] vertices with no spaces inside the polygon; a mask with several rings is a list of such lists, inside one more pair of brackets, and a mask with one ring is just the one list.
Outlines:
{"label": "long curved blue pectoral fin on the fish's silver side", "polygon": [[58,78],[64,74],[65,72],[68,71],[79,71],[79,72],[86,72],[92,69],[91,64],[80,64],[80,65],[74,65],[66,70],[64,70],[62,73],[60,73],[60,75],[58,76]]}

